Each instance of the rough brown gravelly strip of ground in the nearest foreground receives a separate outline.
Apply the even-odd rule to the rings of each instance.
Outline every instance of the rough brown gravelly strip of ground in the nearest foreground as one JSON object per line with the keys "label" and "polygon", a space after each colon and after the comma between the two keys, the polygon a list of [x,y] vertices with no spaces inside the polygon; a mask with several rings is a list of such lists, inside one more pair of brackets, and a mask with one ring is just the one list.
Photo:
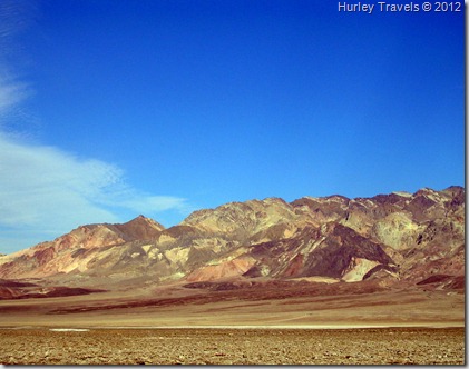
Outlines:
{"label": "rough brown gravelly strip of ground in the nearest foreground", "polygon": [[463,328],[0,329],[3,365],[465,365]]}

